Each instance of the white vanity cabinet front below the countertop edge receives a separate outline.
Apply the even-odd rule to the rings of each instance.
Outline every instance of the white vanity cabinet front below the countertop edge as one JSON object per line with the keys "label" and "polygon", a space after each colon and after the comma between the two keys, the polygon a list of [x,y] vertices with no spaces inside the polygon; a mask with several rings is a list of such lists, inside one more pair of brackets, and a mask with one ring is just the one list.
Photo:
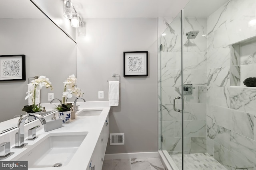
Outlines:
{"label": "white vanity cabinet front below the countertop edge", "polygon": [[[108,144],[108,117],[102,127],[102,131],[100,133],[100,137],[98,138],[97,144],[94,148],[90,164],[86,168],[86,170],[102,170],[102,164],[104,161],[104,156],[106,152],[106,147]],[[93,168],[94,167],[94,168]]]}

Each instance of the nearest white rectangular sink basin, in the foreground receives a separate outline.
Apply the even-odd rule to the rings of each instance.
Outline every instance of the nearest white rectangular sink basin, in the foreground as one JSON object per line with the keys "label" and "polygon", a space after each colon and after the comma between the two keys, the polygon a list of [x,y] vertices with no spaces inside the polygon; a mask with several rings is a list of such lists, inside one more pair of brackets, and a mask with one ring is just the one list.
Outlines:
{"label": "nearest white rectangular sink basin, in the foreground", "polygon": [[87,133],[68,135],[67,133],[50,133],[32,150],[18,160],[27,160],[28,168],[52,167],[56,163],[65,166],[74,156]]}

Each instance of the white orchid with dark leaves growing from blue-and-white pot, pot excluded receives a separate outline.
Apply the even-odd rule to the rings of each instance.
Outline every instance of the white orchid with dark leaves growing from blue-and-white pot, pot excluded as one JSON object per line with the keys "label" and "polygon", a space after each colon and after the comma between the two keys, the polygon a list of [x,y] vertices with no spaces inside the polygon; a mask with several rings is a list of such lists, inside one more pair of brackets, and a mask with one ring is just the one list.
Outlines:
{"label": "white orchid with dark leaves growing from blue-and-white pot, pot excluded", "polygon": [[73,105],[72,103],[67,103],[68,98],[83,96],[84,93],[81,92],[80,88],[76,87],[76,83],[77,79],[74,74],[64,81],[63,103],[55,107],[58,111],[70,111]]}

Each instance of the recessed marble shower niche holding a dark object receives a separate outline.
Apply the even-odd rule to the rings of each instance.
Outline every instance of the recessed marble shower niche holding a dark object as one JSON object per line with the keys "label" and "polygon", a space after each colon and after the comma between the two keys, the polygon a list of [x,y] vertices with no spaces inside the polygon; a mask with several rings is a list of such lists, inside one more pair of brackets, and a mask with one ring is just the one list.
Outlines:
{"label": "recessed marble shower niche holding a dark object", "polygon": [[256,37],[230,45],[231,86],[242,86],[249,77],[256,78]]}

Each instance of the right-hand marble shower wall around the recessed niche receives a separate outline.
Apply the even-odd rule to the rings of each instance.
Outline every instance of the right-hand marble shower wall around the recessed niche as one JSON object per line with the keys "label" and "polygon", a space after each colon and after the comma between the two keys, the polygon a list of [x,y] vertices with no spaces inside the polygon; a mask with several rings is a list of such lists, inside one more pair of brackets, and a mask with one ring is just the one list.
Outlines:
{"label": "right-hand marble shower wall around the recessed niche", "polygon": [[228,170],[256,169],[256,88],[230,86],[230,45],[256,35],[255,10],[256,0],[230,0],[207,19],[207,152]]}

